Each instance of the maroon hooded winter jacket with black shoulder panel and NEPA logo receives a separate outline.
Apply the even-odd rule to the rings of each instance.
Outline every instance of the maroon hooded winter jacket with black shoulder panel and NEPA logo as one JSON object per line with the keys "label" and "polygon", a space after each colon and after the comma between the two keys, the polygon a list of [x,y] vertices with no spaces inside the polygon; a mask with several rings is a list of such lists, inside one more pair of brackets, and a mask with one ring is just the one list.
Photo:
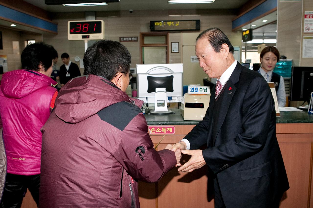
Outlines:
{"label": "maroon hooded winter jacket with black shoulder panel and NEPA logo", "polygon": [[176,157],[153,149],[135,102],[95,75],[61,88],[41,129],[39,207],[140,207],[136,181],[159,181]]}

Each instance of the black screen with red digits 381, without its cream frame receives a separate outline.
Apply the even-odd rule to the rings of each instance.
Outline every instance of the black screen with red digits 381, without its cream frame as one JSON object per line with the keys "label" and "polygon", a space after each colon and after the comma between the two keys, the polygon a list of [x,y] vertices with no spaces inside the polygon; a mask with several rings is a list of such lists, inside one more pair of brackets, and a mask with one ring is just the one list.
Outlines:
{"label": "black screen with red digits 381, without its cream frame", "polygon": [[69,23],[69,34],[95,34],[101,33],[101,31],[101,21]]}

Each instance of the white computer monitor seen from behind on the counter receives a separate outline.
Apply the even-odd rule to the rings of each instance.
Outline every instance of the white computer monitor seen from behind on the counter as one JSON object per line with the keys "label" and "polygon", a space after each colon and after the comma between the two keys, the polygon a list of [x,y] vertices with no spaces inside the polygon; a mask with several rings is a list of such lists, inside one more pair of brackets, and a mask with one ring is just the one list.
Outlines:
{"label": "white computer monitor seen from behind on the counter", "polygon": [[[160,103],[163,101],[165,106],[171,99],[171,102],[181,102],[183,92],[182,71],[182,63],[137,64],[138,99],[146,103],[155,103],[155,108],[158,106],[158,101],[160,101],[159,98],[155,99],[155,96],[160,94],[165,96],[165,98],[162,98],[160,101]],[[163,93],[161,93],[161,91]]]}

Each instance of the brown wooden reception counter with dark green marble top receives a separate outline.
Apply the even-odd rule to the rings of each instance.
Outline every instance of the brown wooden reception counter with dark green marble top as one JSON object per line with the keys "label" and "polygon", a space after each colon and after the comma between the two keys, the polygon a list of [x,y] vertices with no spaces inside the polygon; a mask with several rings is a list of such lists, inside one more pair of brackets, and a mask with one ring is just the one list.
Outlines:
{"label": "brown wooden reception counter with dark green marble top", "polygon": [[[145,115],[148,126],[154,130],[159,127],[161,131],[150,133],[154,144],[165,134],[158,146],[159,150],[167,144],[180,141],[199,122],[184,121],[178,109],[174,109],[174,112],[175,114],[165,116]],[[277,140],[290,184],[280,207],[313,208],[313,115],[304,111],[282,111],[276,121]],[[174,127],[175,133],[162,132],[162,127]],[[189,158],[184,155],[182,161],[188,161]],[[214,199],[207,194],[207,180],[207,166],[191,173],[178,172],[177,168],[174,168],[156,184],[139,183],[141,207],[213,208]]]}

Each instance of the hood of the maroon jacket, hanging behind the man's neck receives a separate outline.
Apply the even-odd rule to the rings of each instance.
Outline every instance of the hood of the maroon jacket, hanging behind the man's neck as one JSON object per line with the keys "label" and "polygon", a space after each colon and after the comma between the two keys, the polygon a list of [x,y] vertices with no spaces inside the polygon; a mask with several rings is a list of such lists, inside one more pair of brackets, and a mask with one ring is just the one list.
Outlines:
{"label": "hood of the maroon jacket, hanging behind the man's neck", "polygon": [[117,102],[143,102],[131,99],[112,82],[96,75],[75,77],[64,85],[55,102],[55,114],[65,122],[78,123]]}

